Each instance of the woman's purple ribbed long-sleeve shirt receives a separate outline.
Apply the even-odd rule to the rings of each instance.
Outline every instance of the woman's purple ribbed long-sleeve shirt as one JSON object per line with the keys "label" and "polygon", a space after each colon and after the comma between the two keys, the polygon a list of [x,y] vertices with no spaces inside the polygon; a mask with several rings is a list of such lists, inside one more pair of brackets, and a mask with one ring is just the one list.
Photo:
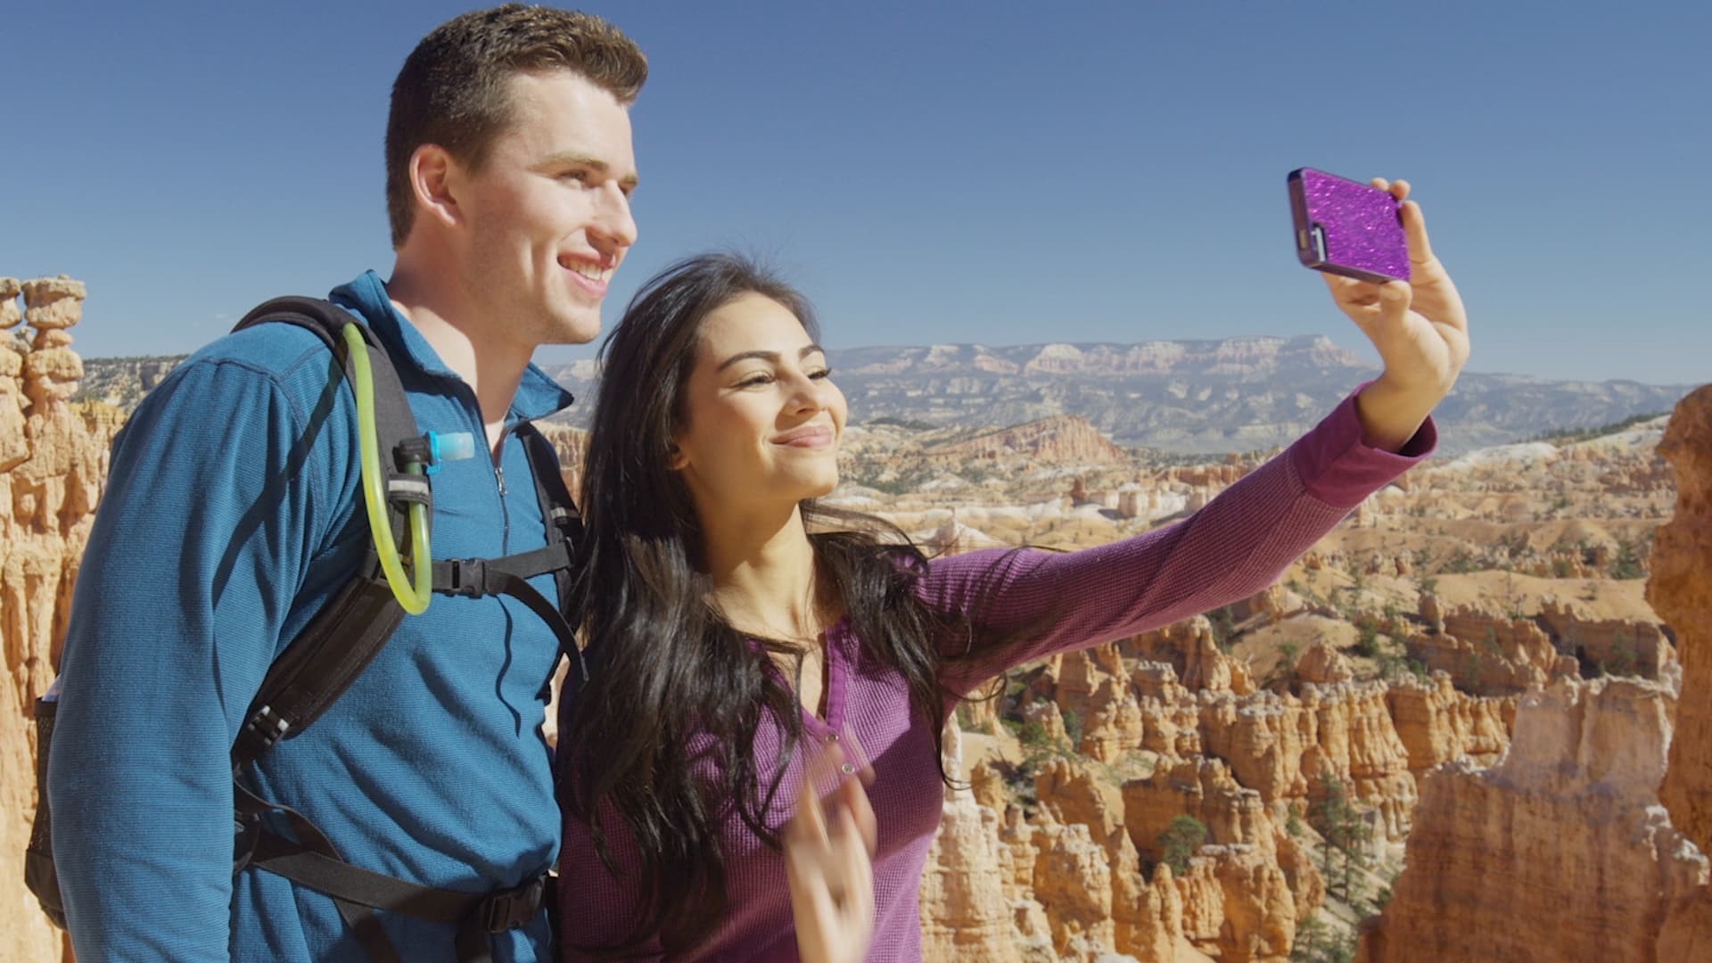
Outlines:
{"label": "woman's purple ribbed long-sleeve shirt", "polygon": [[[1080,552],[1020,552],[1005,560],[1005,550],[986,550],[935,559],[918,591],[940,610],[964,612],[986,593],[988,624],[1022,625],[1048,612],[1061,613],[991,660],[947,667],[943,682],[969,692],[1014,665],[1133,636],[1246,598],[1272,584],[1368,493],[1431,454],[1435,444],[1431,422],[1402,454],[1363,444],[1351,394],[1284,454],[1174,524]],[[984,588],[983,579],[995,576],[996,588]],[[948,715],[952,708],[948,701],[943,711]],[[784,739],[777,723],[765,713],[762,718],[755,763],[767,773]],[[868,799],[880,833],[868,960],[919,960],[921,867],[943,799],[933,730],[911,713],[902,677],[870,658],[847,622],[827,632],[825,720],[805,713],[803,723],[808,739],[823,742],[846,730],[854,733],[873,763]],[[779,804],[770,812],[774,826],[782,828],[789,819],[803,756],[798,752],[786,769],[776,795]],[[722,845],[728,918],[719,936],[690,958],[796,960],[784,858],[736,816],[724,826]],[[606,872],[587,824],[572,817],[565,819],[558,891],[565,960],[580,958],[570,942],[609,942],[635,920],[633,891]]]}

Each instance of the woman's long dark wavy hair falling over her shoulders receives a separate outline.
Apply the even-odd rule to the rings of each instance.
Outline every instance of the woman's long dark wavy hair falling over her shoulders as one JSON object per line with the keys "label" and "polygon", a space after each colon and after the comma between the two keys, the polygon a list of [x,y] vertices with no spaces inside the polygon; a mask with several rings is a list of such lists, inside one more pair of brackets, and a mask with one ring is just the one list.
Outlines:
{"label": "woman's long dark wavy hair falling over her shoulders", "polygon": [[[707,601],[700,524],[669,468],[702,320],[745,293],[784,305],[818,339],[798,291],[752,260],[709,254],[652,278],[601,346],[579,593],[592,682],[562,725],[562,802],[591,826],[608,870],[637,888],[640,915],[618,944],[586,951],[620,956],[659,937],[671,954],[714,936],[726,915],[719,826],[733,812],[779,848],[765,812],[803,723],[796,694],[767,668],[767,648],[793,646],[757,649]],[[911,711],[943,749],[940,646],[948,632],[969,632],[967,622],[918,598],[926,559],[894,526],[811,500],[801,511],[817,581],[842,595],[854,634],[904,677]],[[755,757],[762,713],[784,732],[770,771]],[[628,840],[615,846],[616,836]],[[632,860],[637,872],[621,865]]]}

